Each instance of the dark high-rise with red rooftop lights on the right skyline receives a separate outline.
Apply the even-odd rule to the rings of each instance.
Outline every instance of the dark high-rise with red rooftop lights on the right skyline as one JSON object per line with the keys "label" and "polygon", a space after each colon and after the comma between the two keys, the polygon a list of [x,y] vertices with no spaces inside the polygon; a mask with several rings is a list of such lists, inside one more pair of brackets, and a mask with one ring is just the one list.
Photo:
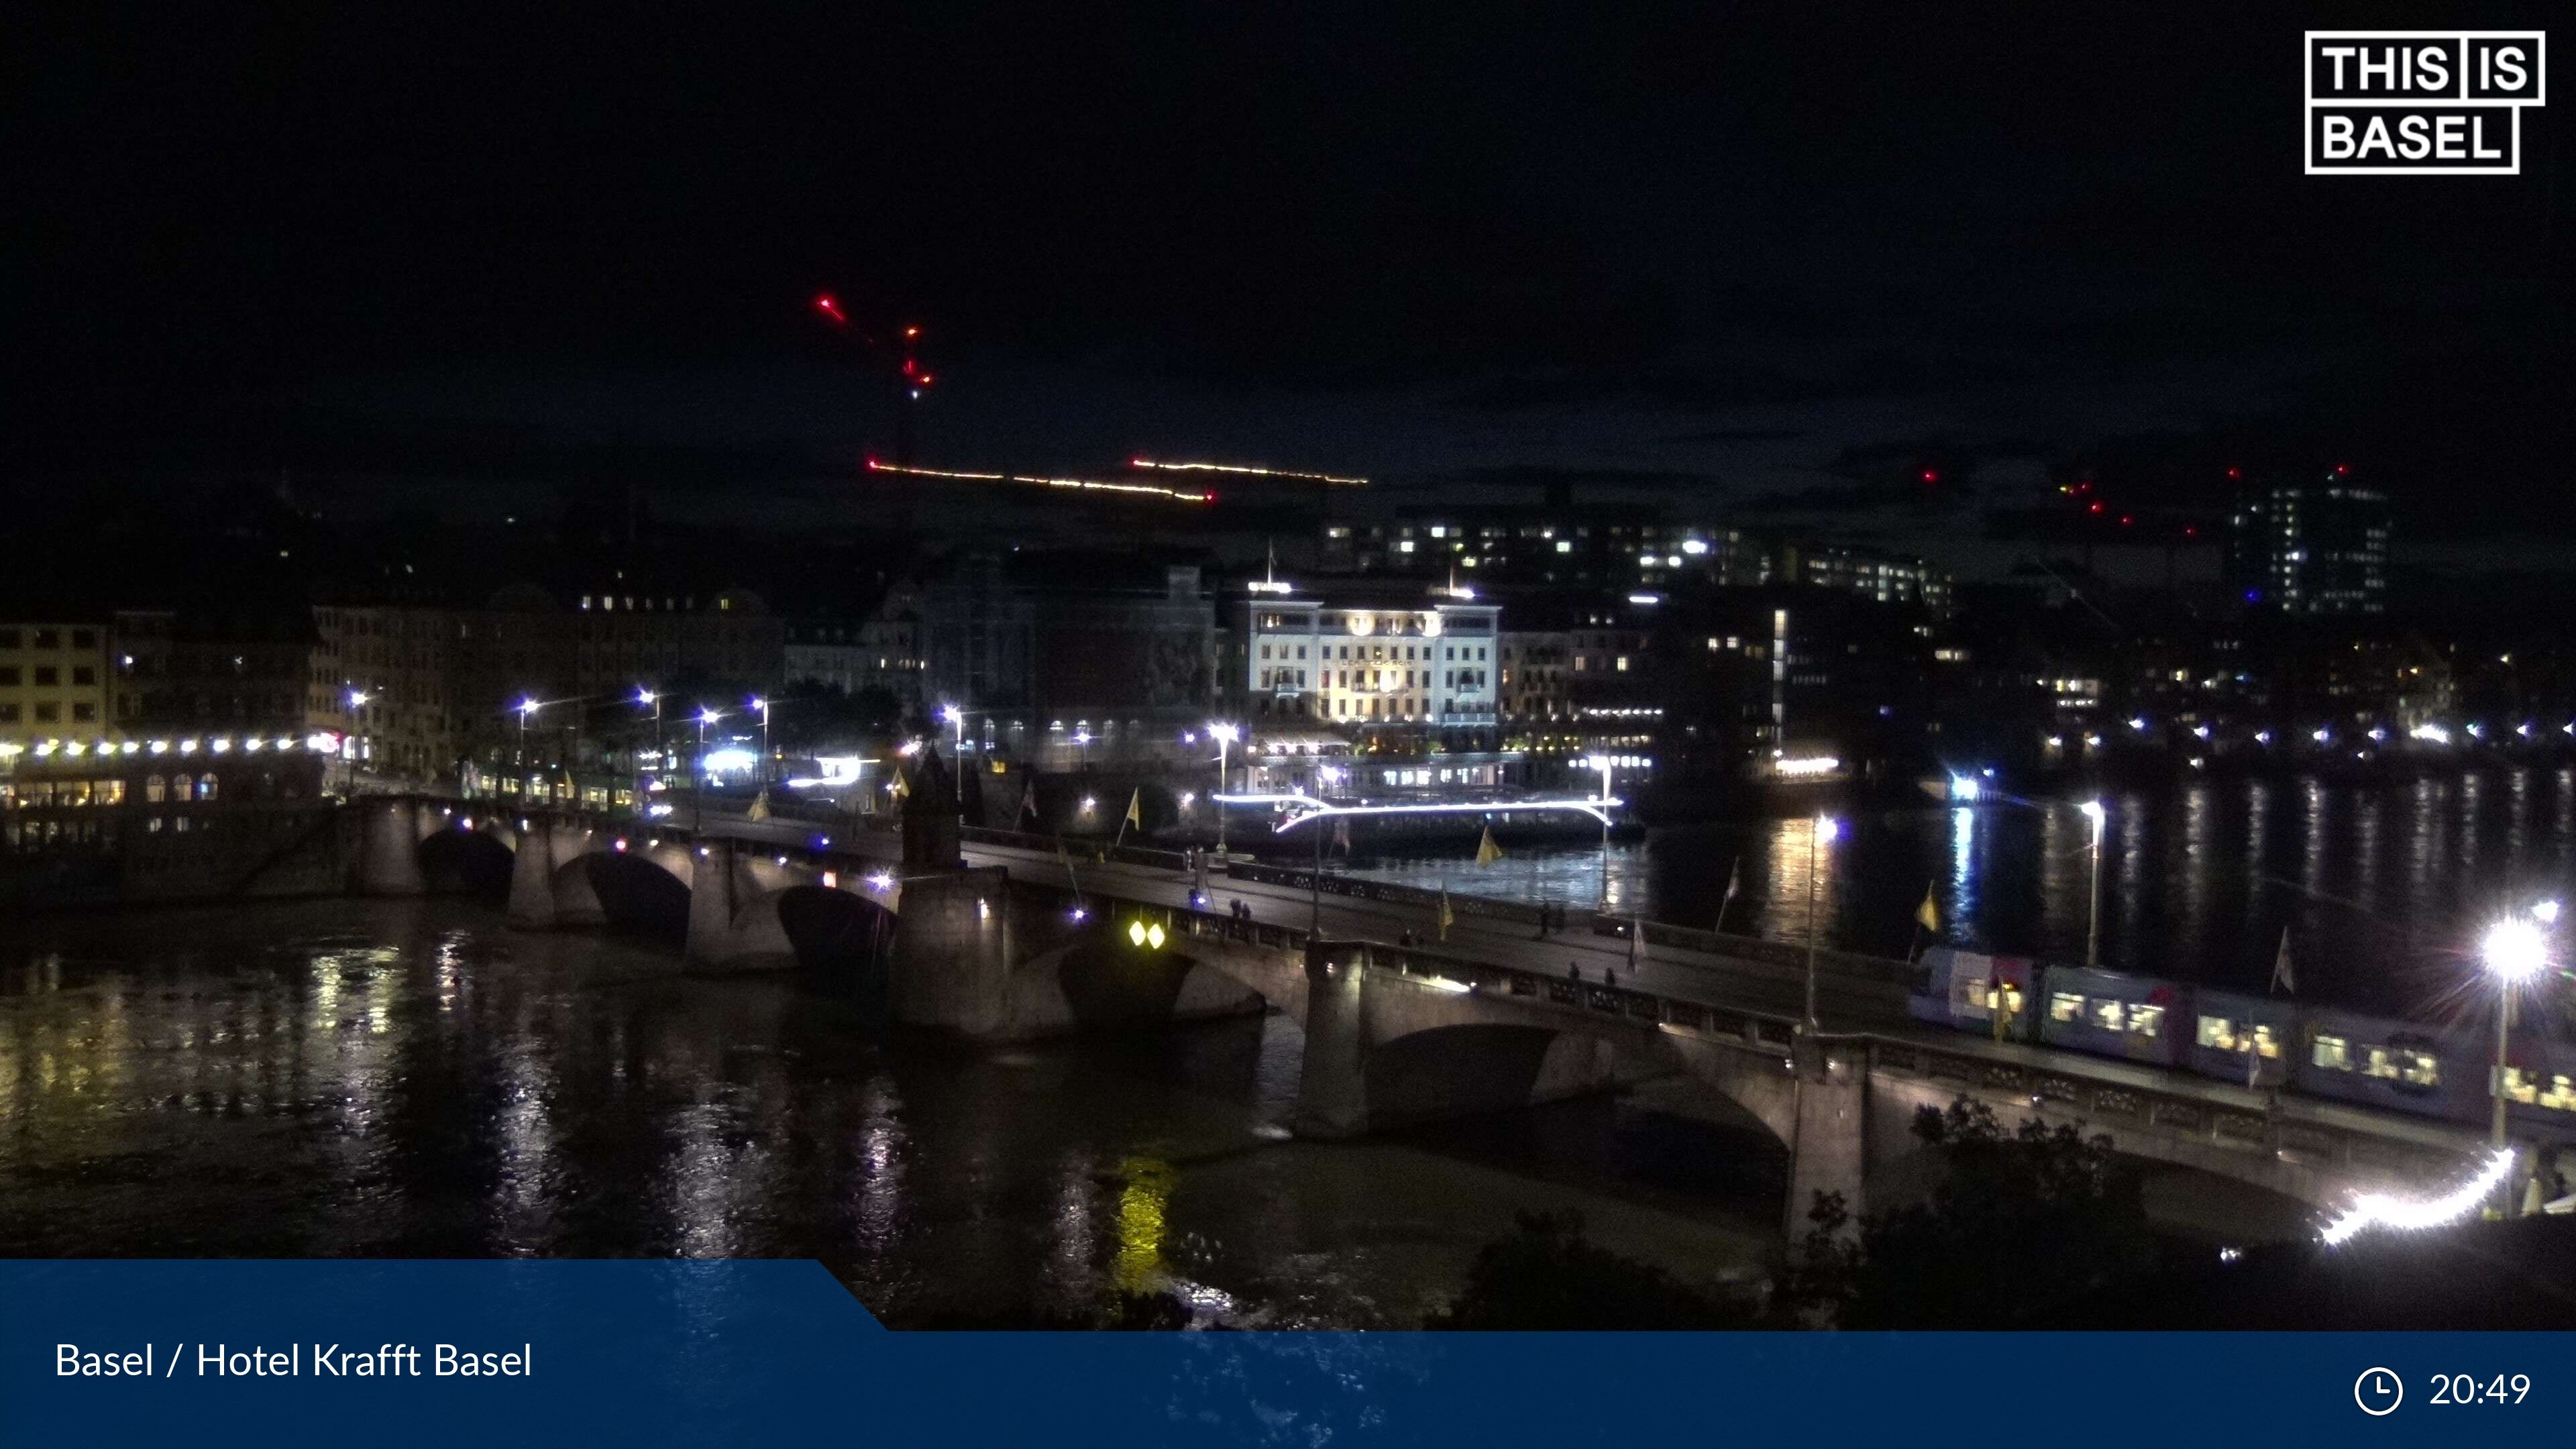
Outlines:
{"label": "dark high-rise with red rooftop lights on the right skyline", "polygon": [[2228,578],[2280,614],[2380,614],[2388,598],[2388,495],[2336,467],[2318,482],[2262,482],[2236,500]]}

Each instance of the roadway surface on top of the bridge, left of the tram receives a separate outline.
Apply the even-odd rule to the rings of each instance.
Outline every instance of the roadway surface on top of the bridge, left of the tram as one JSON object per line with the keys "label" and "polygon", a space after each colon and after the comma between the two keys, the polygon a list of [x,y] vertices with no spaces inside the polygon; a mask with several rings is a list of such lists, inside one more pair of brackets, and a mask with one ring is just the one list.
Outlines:
{"label": "roadway surface on top of the bridge, left of the tram", "polygon": [[[703,833],[811,848],[817,825],[804,820],[755,822],[708,815]],[[835,848],[878,856],[889,864],[902,856],[902,843],[894,835],[876,830],[837,833],[832,843]],[[999,866],[1020,882],[1046,887],[1066,884],[1064,859],[1054,848],[969,841],[963,846],[963,856],[969,866]],[[1190,877],[1167,866],[1074,861],[1072,879],[1079,882],[1084,892],[1115,900],[1170,908],[1190,905]],[[1239,879],[1211,869],[1208,897],[1213,910],[1226,910],[1229,902],[1242,900],[1252,908],[1255,920],[1288,931],[1309,931],[1309,923],[1314,920],[1314,892],[1293,884]],[[1412,931],[1430,954],[1461,957],[1551,977],[1564,977],[1566,967],[1577,967],[1587,982],[1602,982],[1610,972],[1615,972],[1620,987],[1674,1000],[1692,1000],[1710,1008],[1770,1016],[1780,1021],[1806,1016],[1803,964],[1793,967],[1669,944],[1646,944],[1638,959],[1631,959],[1628,938],[1595,933],[1589,928],[1592,915],[1587,910],[1569,913],[1569,926],[1574,926],[1571,931],[1538,938],[1528,923],[1476,915],[1473,897],[1466,892],[1455,900],[1461,908],[1453,910],[1448,938],[1440,941],[1435,905],[1370,900],[1334,895],[1327,890],[1321,897],[1321,938],[1396,944],[1406,931]],[[1976,1057],[2004,1067],[2020,1067],[2022,1073],[2050,1073],[2164,1098],[2190,1098],[2215,1111],[2267,1116],[2275,1124],[2308,1124],[2339,1134],[2403,1142],[2442,1158],[2468,1160],[2481,1152],[2481,1134],[2447,1122],[2370,1111],[2293,1093],[2272,1096],[2148,1062],[2117,1062],[2110,1057],[2092,1057],[2030,1042],[1991,1042],[1965,1031],[1945,1031],[1911,1018],[1906,1013],[1906,998],[1909,987],[1896,980],[1862,980],[1832,967],[1819,969],[1819,1029],[1826,1036],[1868,1034],[1880,1042],[1901,1042],[1950,1057]]]}

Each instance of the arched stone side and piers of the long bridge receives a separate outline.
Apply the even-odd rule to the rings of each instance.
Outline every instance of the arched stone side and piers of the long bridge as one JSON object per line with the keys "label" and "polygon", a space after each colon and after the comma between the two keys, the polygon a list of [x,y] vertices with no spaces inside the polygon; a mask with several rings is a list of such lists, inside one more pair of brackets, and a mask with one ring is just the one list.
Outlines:
{"label": "arched stone side and piers of the long bridge", "polygon": [[971,1042],[1278,1008],[1303,1029],[1293,1129],[1306,1137],[1698,1083],[1788,1150],[1793,1238],[1816,1191],[1855,1212],[1911,1196],[1929,1171],[1914,1114],[1960,1096],[2004,1122],[2081,1122],[2125,1155],[2318,1207],[2450,1183],[2476,1155],[2470,1134],[2442,1124],[2267,1111],[2218,1083],[2071,1052],[1806,1034],[1777,1011],[1538,975],[1463,946],[1316,938],[1198,910],[1177,871],[1103,866],[1079,890],[1051,861],[963,866],[953,830],[925,841],[907,828],[904,864],[886,835],[835,843],[819,828],[752,843],[564,812],[466,815],[459,802],[363,810],[358,877],[374,895],[428,890],[440,871],[495,879],[505,864],[518,928],[657,928],[714,972],[860,969],[881,980],[894,1021]]}

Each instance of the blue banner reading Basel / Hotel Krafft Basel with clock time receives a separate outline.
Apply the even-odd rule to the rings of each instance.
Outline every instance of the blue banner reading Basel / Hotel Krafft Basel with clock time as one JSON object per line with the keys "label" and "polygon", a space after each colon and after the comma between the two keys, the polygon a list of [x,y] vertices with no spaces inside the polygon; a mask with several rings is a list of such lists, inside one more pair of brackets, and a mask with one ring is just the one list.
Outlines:
{"label": "blue banner reading Basel / Hotel Krafft Basel with clock time", "polygon": [[0,1263],[0,1444],[2548,1436],[2576,1336],[886,1333],[814,1263]]}

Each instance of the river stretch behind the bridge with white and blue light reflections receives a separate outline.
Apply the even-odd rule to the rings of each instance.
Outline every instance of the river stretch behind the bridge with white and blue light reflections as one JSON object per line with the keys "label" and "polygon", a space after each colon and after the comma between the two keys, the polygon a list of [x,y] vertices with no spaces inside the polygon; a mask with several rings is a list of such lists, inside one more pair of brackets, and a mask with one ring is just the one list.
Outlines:
{"label": "river stretch behind the bridge with white and blue light reflections", "polygon": [[[2576,908],[2576,768],[2494,768],[2396,786],[2303,779],[2195,781],[2110,794],[2102,838],[2102,964],[2262,993],[2282,931],[2298,993],[2362,1011],[2447,1016],[2468,946],[2509,905]],[[1901,957],[1945,941],[2084,959],[2092,825],[2069,799],[1922,807],[1654,830],[1641,843],[1358,859],[1406,884],[1607,900],[1677,926]],[[1814,864],[1814,869],[1811,869]],[[1736,877],[1734,902],[1726,882]],[[1814,882],[1814,915],[1808,890]],[[1932,895],[1940,931],[1917,933]],[[2568,915],[2576,923],[2576,910]]]}

